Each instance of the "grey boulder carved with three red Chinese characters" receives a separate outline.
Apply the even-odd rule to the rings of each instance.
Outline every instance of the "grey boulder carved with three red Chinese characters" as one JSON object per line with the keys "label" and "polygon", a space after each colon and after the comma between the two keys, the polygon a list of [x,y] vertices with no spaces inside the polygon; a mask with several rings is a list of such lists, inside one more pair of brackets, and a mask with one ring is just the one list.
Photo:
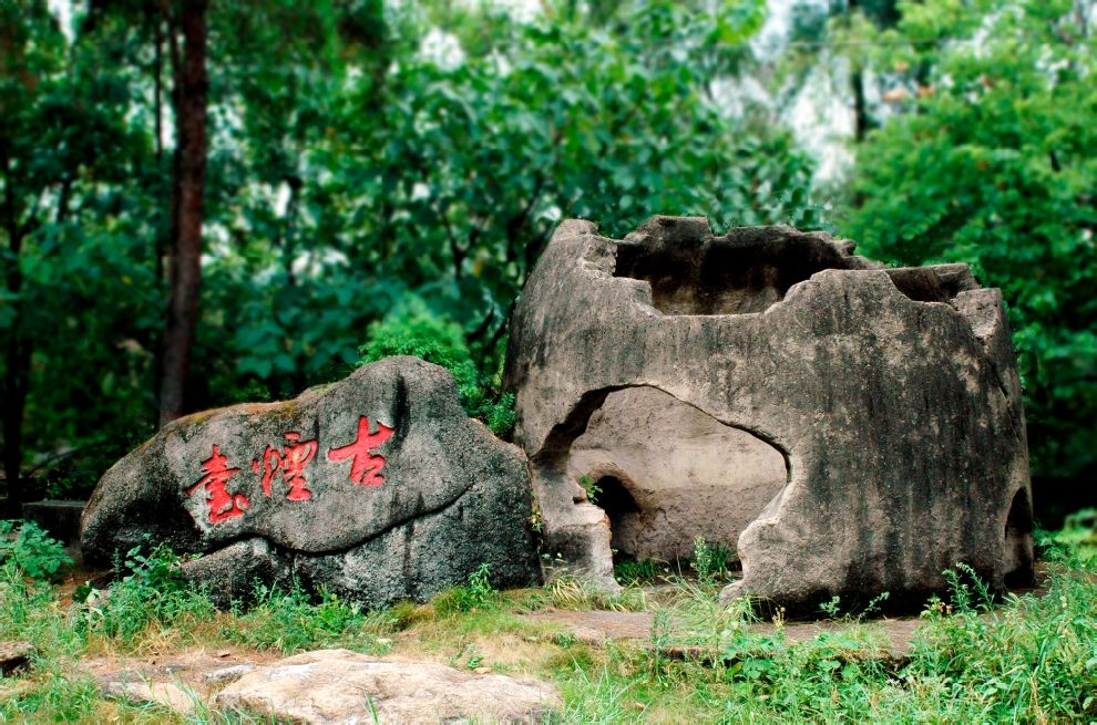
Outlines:
{"label": "grey boulder carved with three red Chinese characters", "polygon": [[[330,454],[366,434],[385,437],[379,424],[391,434],[368,453],[355,460]],[[304,481],[288,463],[279,467],[294,446],[314,441],[311,457],[299,449]],[[217,464],[214,446],[223,467],[239,469],[222,499],[203,483]],[[367,456],[383,464],[366,465]],[[496,586],[534,581],[529,514],[521,450],[464,414],[449,372],[390,358],[293,401],[236,405],[165,426],[103,476],[83,515],[81,543],[92,561],[107,561],[145,535],[178,552],[204,553],[185,573],[222,601],[246,594],[255,577],[298,577],[377,607],[428,599],[482,562]]]}

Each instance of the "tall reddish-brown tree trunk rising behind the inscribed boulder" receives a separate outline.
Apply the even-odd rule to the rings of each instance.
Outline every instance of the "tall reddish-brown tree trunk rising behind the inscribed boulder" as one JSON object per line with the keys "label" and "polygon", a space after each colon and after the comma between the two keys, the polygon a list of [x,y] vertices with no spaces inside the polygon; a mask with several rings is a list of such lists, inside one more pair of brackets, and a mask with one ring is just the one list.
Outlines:
{"label": "tall reddish-brown tree trunk rising behind the inscribed boulder", "polygon": [[183,58],[176,74],[176,164],[172,189],[167,324],[160,423],[183,415],[184,389],[202,284],[202,209],[206,184],[207,0],[182,2]]}

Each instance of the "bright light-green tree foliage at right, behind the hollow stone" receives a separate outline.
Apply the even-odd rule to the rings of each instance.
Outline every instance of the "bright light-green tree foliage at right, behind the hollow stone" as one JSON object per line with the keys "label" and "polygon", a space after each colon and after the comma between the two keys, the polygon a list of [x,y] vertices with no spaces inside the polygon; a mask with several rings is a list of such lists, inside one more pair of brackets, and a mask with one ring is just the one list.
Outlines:
{"label": "bright light-green tree foliage at right, behind the hollow stone", "polygon": [[[1065,0],[900,3],[872,59],[896,110],[858,148],[865,253],[1002,288],[1037,473],[1097,466],[1097,72]],[[916,44],[905,39],[919,39]]]}

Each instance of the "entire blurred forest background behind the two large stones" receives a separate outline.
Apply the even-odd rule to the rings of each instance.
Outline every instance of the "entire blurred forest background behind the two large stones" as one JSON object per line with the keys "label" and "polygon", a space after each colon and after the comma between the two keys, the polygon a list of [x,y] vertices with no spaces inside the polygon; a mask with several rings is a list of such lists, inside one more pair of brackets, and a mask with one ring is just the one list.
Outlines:
{"label": "entire blurred forest background behind the two large stones", "polygon": [[[762,38],[777,4],[0,0],[0,495],[86,495],[162,422],[409,344],[505,427],[555,224],[675,214],[972,265],[1035,474],[1091,498],[1095,3],[801,0]],[[851,120],[837,172],[806,97]]]}

